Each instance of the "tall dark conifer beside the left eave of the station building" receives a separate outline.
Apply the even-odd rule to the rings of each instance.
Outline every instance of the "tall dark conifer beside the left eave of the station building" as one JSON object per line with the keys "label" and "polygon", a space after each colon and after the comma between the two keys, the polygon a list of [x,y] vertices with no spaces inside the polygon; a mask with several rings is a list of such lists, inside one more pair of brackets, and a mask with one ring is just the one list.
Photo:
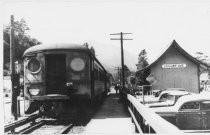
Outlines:
{"label": "tall dark conifer beside the left eave of the station building", "polygon": [[149,65],[148,61],[147,61],[147,52],[145,49],[143,49],[139,53],[138,64],[136,64],[136,66],[137,66],[136,78],[137,78],[138,85],[148,85],[149,84],[149,82],[146,80],[146,78],[150,74],[150,69],[142,70],[147,65]]}

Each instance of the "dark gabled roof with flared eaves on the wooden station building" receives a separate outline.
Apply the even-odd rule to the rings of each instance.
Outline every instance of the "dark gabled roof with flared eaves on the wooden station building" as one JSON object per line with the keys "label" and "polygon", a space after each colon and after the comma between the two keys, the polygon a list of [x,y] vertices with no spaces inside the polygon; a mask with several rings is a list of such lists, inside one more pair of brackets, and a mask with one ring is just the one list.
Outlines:
{"label": "dark gabled roof with flared eaves on the wooden station building", "polygon": [[[163,55],[165,55],[168,50],[170,50],[171,48],[175,48],[179,53],[181,53],[183,56],[185,56],[186,58],[188,58],[190,61],[192,61],[193,63],[201,66],[202,68],[207,68],[208,65],[205,64],[205,63],[202,63],[201,61],[197,60],[196,58],[194,58],[193,56],[191,56],[189,53],[187,53],[181,46],[178,45],[178,43],[173,40],[172,43],[163,50],[163,53],[161,55],[159,55],[159,57],[157,57],[156,59],[154,59],[151,64],[149,64],[148,66],[146,66],[145,68],[139,70],[139,71],[142,71],[142,70],[145,70],[145,69],[148,69],[150,68],[151,66],[153,66],[155,63],[157,63],[159,61],[159,59],[161,59],[161,57]],[[138,71],[137,71],[138,72]]]}

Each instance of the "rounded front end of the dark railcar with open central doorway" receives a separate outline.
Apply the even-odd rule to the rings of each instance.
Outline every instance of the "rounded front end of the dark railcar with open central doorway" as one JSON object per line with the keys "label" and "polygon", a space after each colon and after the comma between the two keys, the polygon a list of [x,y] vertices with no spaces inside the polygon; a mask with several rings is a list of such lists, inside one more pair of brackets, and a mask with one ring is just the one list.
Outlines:
{"label": "rounded front end of the dark railcar with open central doorway", "polygon": [[25,113],[64,110],[91,101],[91,57],[85,49],[24,54]]}

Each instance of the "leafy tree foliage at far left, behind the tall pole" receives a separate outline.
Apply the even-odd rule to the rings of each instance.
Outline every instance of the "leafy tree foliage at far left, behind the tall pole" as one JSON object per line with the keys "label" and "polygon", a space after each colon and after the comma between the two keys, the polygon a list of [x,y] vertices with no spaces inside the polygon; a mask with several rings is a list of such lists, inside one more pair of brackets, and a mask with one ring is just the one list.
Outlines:
{"label": "leafy tree foliage at far left, behind the tall pole", "polygon": [[[24,19],[14,22],[14,44],[15,44],[15,60],[22,60],[24,51],[34,45],[41,44],[35,38],[31,38],[28,35],[29,27]],[[4,69],[9,70],[10,62],[10,25],[3,27],[3,39],[4,39]]]}

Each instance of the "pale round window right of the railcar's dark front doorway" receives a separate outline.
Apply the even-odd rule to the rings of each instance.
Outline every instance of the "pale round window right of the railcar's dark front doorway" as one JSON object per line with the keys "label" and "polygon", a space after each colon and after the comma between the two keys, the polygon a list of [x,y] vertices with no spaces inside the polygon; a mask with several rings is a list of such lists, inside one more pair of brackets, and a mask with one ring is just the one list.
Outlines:
{"label": "pale round window right of the railcar's dark front doorway", "polygon": [[82,71],[85,68],[85,61],[82,58],[74,58],[70,66],[74,71]]}

